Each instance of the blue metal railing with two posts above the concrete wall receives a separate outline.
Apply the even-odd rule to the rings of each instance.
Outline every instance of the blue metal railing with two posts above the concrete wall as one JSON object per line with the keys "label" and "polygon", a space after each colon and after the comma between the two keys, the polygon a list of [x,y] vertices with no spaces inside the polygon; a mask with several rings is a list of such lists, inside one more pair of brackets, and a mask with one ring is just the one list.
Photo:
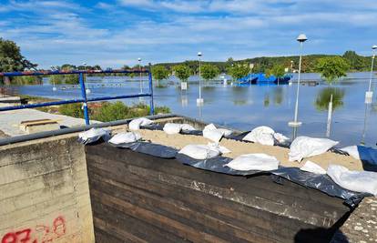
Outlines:
{"label": "blue metal railing with two posts above the concrete wall", "polygon": [[[85,82],[84,82],[84,74],[148,74],[148,83],[149,83],[149,92],[148,93],[141,93],[137,95],[125,95],[125,96],[102,96],[102,97],[93,97],[88,98]],[[87,110],[87,103],[94,102],[94,101],[105,101],[105,100],[113,100],[113,99],[123,99],[123,98],[135,98],[135,97],[146,97],[149,96],[149,106],[150,106],[150,115],[154,115],[155,107],[153,102],[153,85],[152,85],[152,74],[150,72],[150,66],[148,69],[142,70],[83,70],[83,71],[36,71],[36,72],[9,72],[9,73],[0,73],[0,77],[3,76],[47,76],[47,75],[78,75],[78,81],[81,88],[81,98],[74,98],[68,100],[59,100],[59,101],[51,101],[51,102],[44,102],[38,104],[27,104],[21,106],[5,106],[0,107],[1,111],[7,110],[17,110],[17,109],[26,109],[26,108],[36,108],[36,107],[44,107],[44,106],[59,106],[65,104],[73,104],[73,103],[83,103],[83,110],[84,110],[84,117],[85,122],[87,125],[90,124],[89,121],[89,113]]]}

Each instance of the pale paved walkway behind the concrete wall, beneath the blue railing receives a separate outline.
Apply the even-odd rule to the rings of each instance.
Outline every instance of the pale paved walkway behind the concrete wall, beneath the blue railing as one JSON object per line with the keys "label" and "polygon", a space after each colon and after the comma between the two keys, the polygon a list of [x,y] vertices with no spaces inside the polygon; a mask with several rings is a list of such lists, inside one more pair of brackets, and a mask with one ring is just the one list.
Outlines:
{"label": "pale paved walkway behind the concrete wall, beneath the blue railing", "polygon": [[[0,104],[0,106],[14,106],[12,104]],[[0,112],[0,131],[6,136],[15,137],[25,135],[20,129],[20,123],[25,120],[52,119],[56,120],[61,127],[77,127],[85,125],[85,120],[71,116],[50,114],[36,109],[21,109]],[[98,121],[91,121],[98,123]]]}

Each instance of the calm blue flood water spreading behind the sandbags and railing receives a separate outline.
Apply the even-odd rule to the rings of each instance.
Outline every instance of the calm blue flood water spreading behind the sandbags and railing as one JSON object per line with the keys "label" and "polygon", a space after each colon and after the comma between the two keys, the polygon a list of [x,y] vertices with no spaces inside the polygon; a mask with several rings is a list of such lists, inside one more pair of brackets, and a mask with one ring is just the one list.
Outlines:
{"label": "calm blue flood water spreading behind the sandbags and railing", "polygon": [[[376,77],[376,76],[374,76]],[[195,78],[195,77],[193,77]],[[303,74],[303,80],[321,80],[317,74]],[[293,80],[297,80],[293,77]],[[173,79],[174,81],[174,79]],[[341,142],[340,146],[361,144],[376,147],[377,142],[377,102],[374,90],[372,105],[364,104],[365,91],[368,88],[369,73],[353,73],[347,78],[329,86],[320,82],[318,86],[300,87],[298,135],[325,137],[328,105],[333,96],[333,112],[330,138]],[[139,93],[139,83],[105,78],[97,81],[88,78],[91,90],[89,97],[118,96]],[[115,86],[114,84],[122,84]],[[148,90],[147,81],[143,84]],[[373,82],[373,88],[376,86]],[[16,86],[19,94],[46,96],[52,98],[80,97],[78,88],[62,90],[46,82],[42,86]],[[275,131],[292,137],[292,128],[288,122],[293,119],[297,84],[281,86],[223,86],[210,84],[202,88],[204,105],[199,107],[196,99],[199,86],[189,84],[187,91],[181,91],[177,85],[154,88],[155,106],[168,106],[176,114],[191,116],[206,122],[214,122],[240,130],[265,125]],[[143,98],[148,102],[148,98]],[[138,98],[125,101],[137,103]],[[363,137],[364,134],[364,137]]]}

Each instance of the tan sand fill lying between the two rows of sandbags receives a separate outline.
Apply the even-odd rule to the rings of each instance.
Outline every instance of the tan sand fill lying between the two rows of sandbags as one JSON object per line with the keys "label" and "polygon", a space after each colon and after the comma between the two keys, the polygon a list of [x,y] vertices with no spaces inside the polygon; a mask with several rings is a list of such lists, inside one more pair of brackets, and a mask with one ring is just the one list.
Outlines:
{"label": "tan sand fill lying between the two rows of sandbags", "polygon": [[[175,147],[180,149],[189,144],[204,144],[207,145],[211,142],[209,139],[200,136],[193,135],[168,135],[163,131],[158,130],[138,130],[138,133],[145,140],[150,140],[152,143],[165,145],[168,147]],[[305,161],[311,160],[320,165],[324,169],[330,164],[337,164],[343,167],[348,167],[352,170],[362,170],[362,161],[355,159],[351,156],[342,156],[331,152],[324,153],[320,156],[310,157],[309,159],[303,159],[301,163],[291,162],[288,159],[288,148],[276,147],[276,146],[263,146],[255,143],[245,143],[232,139],[223,138],[220,141],[220,145],[227,147],[231,153],[223,155],[223,157],[238,157],[244,154],[250,153],[264,153],[280,160],[280,165],[284,167],[302,167]]]}

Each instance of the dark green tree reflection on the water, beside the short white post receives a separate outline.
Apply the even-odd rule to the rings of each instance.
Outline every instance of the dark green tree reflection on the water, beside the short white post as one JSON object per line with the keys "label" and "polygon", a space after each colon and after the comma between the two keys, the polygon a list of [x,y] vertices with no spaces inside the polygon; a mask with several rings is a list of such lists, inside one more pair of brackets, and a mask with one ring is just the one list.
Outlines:
{"label": "dark green tree reflection on the water, beside the short white post", "polygon": [[332,110],[343,106],[343,98],[345,95],[345,89],[341,87],[324,87],[318,92],[315,106],[318,110],[329,110],[329,103],[332,96]]}

